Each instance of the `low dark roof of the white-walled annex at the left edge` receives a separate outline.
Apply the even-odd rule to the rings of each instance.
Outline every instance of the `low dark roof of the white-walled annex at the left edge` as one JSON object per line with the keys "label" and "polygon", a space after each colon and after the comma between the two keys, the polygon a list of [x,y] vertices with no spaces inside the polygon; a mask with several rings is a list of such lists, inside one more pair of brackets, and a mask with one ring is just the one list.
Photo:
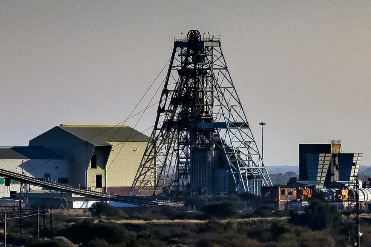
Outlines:
{"label": "low dark roof of the white-walled annex at the left edge", "polygon": [[66,157],[55,153],[49,148],[24,146],[24,147],[0,147],[0,159],[22,160],[22,159],[66,159]]}

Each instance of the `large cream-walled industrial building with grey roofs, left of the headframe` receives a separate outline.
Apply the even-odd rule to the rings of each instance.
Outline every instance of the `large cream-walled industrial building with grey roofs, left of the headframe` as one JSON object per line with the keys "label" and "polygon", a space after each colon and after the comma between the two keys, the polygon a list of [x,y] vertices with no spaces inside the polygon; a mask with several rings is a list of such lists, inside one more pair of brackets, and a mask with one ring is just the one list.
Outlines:
{"label": "large cream-walled industrial building with grey roofs, left of the headframe", "polygon": [[[30,140],[29,146],[0,147],[0,167],[46,181],[127,195],[148,139],[128,126],[60,124]],[[6,181],[0,178],[0,197],[20,192],[19,182]],[[29,193],[41,189],[27,186]]]}

